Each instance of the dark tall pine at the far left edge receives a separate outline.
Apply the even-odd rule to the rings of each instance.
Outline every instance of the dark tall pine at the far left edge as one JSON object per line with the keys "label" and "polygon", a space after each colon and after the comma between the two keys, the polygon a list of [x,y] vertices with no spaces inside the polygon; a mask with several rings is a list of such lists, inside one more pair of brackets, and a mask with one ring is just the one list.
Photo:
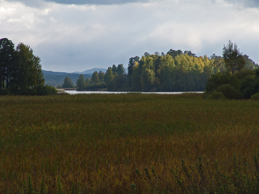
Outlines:
{"label": "dark tall pine at the far left edge", "polygon": [[14,63],[15,49],[12,41],[7,38],[0,39],[0,91],[9,87],[9,77]]}

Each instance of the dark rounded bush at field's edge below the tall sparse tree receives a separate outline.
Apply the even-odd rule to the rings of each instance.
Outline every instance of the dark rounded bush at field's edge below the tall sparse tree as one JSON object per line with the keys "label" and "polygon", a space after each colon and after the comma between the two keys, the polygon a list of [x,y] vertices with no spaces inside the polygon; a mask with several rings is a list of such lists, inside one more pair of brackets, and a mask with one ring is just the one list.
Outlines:
{"label": "dark rounded bush at field's edge below the tall sparse tree", "polygon": [[223,84],[217,87],[216,91],[223,93],[226,99],[243,99],[241,91],[237,90],[230,84]]}

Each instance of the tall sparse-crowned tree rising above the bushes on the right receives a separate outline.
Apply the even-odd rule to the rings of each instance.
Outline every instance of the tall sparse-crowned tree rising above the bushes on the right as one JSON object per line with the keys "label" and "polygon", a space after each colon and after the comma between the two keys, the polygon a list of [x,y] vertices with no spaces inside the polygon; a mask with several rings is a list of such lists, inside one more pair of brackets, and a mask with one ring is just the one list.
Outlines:
{"label": "tall sparse-crowned tree rising above the bushes on the right", "polygon": [[241,53],[237,48],[236,43],[233,45],[229,40],[228,44],[226,46],[224,45],[222,54],[223,61],[228,72],[234,74],[245,67],[245,58],[243,57],[243,53]]}

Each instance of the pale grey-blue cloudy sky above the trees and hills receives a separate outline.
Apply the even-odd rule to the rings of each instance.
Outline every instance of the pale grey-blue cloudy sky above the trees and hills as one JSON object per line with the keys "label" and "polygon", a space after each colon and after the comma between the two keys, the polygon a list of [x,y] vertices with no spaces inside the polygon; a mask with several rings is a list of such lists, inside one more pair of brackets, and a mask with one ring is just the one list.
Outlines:
{"label": "pale grey-blue cloudy sky above the trees and hills", "polygon": [[[71,3],[73,2],[73,4]],[[75,72],[170,49],[259,63],[258,0],[0,0],[0,38],[30,45],[43,70]]]}

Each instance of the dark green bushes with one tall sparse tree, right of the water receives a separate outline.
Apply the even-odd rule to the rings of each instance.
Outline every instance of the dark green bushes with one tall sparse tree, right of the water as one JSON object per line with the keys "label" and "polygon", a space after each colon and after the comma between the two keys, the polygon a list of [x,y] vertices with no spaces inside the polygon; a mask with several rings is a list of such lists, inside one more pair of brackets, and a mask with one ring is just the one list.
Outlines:
{"label": "dark green bushes with one tall sparse tree, right of the water", "polygon": [[259,100],[259,69],[247,69],[248,57],[230,40],[224,45],[222,54],[226,71],[213,74],[208,79],[204,96],[211,99]]}

